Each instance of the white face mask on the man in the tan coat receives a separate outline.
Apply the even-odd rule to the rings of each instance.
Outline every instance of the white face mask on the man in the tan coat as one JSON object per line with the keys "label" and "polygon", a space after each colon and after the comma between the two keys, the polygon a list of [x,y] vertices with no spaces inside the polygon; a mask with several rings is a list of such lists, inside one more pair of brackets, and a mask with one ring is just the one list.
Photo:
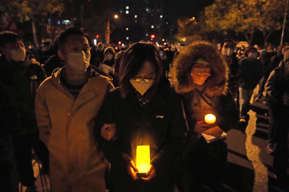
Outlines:
{"label": "white face mask on the man in the tan coat", "polygon": [[80,53],[69,53],[67,56],[67,67],[72,69],[77,74],[84,72],[85,69],[89,66],[90,54],[82,51]]}

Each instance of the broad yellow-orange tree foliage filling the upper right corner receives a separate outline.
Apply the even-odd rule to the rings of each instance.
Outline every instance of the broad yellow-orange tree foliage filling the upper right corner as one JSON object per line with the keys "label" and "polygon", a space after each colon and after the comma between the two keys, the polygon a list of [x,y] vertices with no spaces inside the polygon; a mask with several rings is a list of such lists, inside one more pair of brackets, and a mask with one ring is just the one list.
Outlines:
{"label": "broad yellow-orange tree foliage filling the upper right corner", "polygon": [[249,44],[253,33],[260,30],[264,42],[275,30],[281,29],[286,0],[216,0],[205,8],[206,30],[241,32]]}

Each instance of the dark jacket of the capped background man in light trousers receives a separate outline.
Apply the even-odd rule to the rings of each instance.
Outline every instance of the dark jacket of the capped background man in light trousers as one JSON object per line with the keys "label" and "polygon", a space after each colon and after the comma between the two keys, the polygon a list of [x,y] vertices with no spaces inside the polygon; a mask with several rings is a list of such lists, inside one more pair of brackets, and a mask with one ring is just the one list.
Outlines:
{"label": "dark jacket of the capped background man in light trousers", "polygon": [[241,74],[240,74],[240,87],[253,90],[263,76],[263,65],[258,59],[251,59],[249,57],[239,61]]}

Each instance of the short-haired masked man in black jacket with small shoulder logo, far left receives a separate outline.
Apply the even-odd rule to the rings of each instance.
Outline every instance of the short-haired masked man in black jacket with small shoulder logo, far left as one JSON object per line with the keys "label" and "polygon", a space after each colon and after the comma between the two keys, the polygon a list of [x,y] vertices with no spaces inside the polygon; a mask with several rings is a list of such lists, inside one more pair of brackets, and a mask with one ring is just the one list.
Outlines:
{"label": "short-haired masked man in black jacket with small shoulder logo, far left", "polygon": [[31,148],[48,172],[48,149],[39,139],[34,106],[36,91],[46,78],[43,68],[30,63],[19,35],[14,32],[0,33],[0,81],[11,91],[20,111],[21,123],[12,140],[17,169],[27,191],[36,191]]}

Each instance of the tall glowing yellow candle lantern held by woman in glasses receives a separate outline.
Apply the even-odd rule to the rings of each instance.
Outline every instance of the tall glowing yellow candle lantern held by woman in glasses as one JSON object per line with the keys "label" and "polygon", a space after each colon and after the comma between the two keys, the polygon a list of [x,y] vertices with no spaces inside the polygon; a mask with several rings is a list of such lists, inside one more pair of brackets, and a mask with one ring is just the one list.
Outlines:
{"label": "tall glowing yellow candle lantern held by woman in glasses", "polygon": [[137,177],[148,177],[146,175],[151,165],[150,146],[140,145],[136,147],[136,167],[138,168]]}

